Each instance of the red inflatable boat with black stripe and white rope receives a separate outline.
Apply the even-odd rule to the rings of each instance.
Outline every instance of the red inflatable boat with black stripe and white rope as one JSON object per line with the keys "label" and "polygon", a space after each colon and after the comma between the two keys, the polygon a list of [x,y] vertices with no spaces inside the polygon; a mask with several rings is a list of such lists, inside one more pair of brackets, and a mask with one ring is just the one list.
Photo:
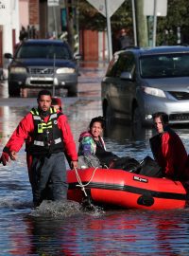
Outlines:
{"label": "red inflatable boat with black stripe and white rope", "polygon": [[[91,197],[96,205],[126,209],[181,209],[189,196],[180,183],[114,169],[67,171],[68,199],[81,202]],[[81,190],[82,189],[82,190]]]}

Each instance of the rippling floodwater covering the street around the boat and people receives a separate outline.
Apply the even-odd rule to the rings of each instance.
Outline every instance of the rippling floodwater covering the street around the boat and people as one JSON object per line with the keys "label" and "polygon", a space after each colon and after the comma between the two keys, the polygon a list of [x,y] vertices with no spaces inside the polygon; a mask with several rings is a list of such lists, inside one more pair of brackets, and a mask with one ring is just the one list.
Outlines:
{"label": "rippling floodwater covering the street around the boat and people", "polygon": [[[84,72],[84,71],[83,71]],[[85,76],[84,76],[85,74]],[[62,98],[74,137],[102,115],[99,77],[85,70],[78,98]],[[34,97],[0,101],[0,151]],[[188,127],[175,127],[189,152]],[[105,132],[107,149],[138,160],[151,155],[152,129],[133,131],[114,123]],[[0,255],[189,255],[189,210],[82,210],[76,202],[43,202],[32,210],[25,149],[18,160],[0,165]]]}

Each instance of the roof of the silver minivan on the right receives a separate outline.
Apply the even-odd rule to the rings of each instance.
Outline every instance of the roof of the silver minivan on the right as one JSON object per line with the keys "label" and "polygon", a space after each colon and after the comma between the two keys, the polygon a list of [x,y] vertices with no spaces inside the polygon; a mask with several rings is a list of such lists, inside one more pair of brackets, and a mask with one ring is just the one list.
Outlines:
{"label": "roof of the silver minivan on the right", "polygon": [[156,46],[156,47],[129,47],[125,50],[115,52],[116,54],[122,54],[124,52],[133,52],[135,55],[155,55],[155,54],[170,54],[170,53],[189,53],[189,46]]}

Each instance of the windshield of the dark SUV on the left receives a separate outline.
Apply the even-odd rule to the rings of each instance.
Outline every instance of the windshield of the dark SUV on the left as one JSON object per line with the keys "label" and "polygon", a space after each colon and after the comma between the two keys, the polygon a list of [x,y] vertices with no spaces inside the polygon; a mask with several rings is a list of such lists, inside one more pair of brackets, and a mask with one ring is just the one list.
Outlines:
{"label": "windshield of the dark SUV on the left", "polygon": [[26,44],[19,48],[16,58],[40,58],[40,59],[72,59],[72,54],[68,47],[63,45],[34,45]]}

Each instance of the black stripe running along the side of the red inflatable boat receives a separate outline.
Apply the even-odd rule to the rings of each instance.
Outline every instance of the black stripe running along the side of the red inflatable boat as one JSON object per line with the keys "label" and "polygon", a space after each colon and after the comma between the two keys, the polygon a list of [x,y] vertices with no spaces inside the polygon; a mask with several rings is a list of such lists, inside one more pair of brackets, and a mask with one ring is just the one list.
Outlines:
{"label": "black stripe running along the side of the red inflatable boat", "polygon": [[[83,182],[83,185],[87,182]],[[70,183],[69,189],[76,189],[78,183]],[[176,192],[155,192],[151,190],[131,187],[128,185],[116,185],[116,184],[104,184],[100,182],[91,182],[85,187],[86,189],[101,189],[101,190],[112,190],[112,191],[124,191],[138,194],[150,194],[153,197],[164,198],[164,199],[177,199],[177,200],[189,200],[188,194],[176,193]]]}

